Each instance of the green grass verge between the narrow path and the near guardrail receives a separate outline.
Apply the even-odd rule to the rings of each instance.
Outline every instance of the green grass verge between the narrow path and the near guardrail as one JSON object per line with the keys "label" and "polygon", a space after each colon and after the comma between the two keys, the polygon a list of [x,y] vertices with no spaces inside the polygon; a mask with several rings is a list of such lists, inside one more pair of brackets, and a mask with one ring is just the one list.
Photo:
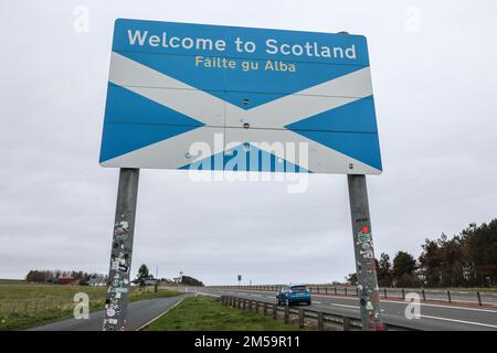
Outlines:
{"label": "green grass verge between the narrow path and the near guardrail", "polygon": [[204,298],[183,300],[146,331],[298,331],[297,327]]}

